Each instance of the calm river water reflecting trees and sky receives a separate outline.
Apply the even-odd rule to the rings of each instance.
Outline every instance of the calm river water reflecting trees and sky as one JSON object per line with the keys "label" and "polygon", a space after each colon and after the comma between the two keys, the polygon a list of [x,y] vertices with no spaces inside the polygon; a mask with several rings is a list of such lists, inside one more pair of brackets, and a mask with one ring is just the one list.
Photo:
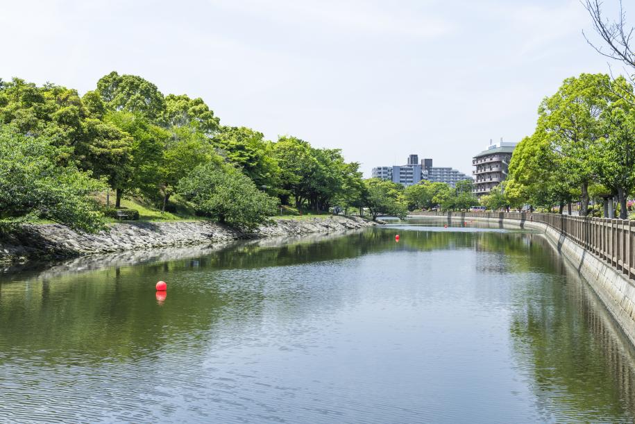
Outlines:
{"label": "calm river water reflecting trees and sky", "polygon": [[539,234],[408,221],[125,256],[0,274],[0,421],[635,418],[634,351]]}

